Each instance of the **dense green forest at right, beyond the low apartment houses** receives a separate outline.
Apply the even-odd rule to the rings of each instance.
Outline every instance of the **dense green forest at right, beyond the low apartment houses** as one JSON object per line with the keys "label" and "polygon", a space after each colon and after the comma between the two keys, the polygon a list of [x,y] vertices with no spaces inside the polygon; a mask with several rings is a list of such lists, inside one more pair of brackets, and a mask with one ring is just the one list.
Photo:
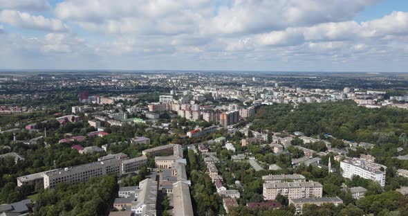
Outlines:
{"label": "dense green forest at right, beyond the low apartment houses", "polygon": [[347,141],[398,143],[408,133],[408,110],[358,107],[352,100],[265,106],[259,109],[251,129],[272,132],[303,132],[306,136],[331,134]]}

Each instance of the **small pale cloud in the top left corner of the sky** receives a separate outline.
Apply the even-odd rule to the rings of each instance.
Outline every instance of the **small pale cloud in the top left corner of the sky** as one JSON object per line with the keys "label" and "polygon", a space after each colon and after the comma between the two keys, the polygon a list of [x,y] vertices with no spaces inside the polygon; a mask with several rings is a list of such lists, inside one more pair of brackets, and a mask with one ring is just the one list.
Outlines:
{"label": "small pale cloud in the top left corner of the sky", "polygon": [[0,8],[26,11],[50,10],[50,4],[46,0],[0,0]]}

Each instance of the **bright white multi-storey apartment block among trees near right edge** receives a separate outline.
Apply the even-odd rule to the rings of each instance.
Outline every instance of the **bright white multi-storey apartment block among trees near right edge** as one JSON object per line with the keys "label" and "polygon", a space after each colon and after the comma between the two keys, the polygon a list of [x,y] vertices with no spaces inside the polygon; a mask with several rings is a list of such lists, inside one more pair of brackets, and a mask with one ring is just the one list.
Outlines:
{"label": "bright white multi-storey apartment block among trees near right edge", "polygon": [[[380,186],[385,186],[385,169],[386,166],[378,163],[365,161],[362,159],[344,159],[340,162],[340,168],[342,168],[342,176],[347,179],[351,179],[353,176],[359,176],[363,179],[371,179],[378,181]],[[382,168],[382,170],[380,170]]]}

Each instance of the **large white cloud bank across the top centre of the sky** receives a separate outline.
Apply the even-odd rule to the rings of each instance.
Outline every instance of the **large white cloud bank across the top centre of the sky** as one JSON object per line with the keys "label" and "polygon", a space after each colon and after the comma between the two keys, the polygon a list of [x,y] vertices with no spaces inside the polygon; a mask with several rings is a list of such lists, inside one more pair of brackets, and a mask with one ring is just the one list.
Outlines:
{"label": "large white cloud bank across the top centre of the sky", "polygon": [[67,0],[55,15],[106,34],[246,35],[345,21],[377,1],[235,0],[216,8],[210,0]]}

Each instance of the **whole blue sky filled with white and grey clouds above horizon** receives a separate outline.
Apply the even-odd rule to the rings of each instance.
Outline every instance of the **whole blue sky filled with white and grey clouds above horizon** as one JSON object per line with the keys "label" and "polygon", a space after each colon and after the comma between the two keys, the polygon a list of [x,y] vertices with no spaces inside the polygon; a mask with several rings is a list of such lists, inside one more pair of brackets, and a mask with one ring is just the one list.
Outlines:
{"label": "whole blue sky filled with white and grey clouds above horizon", "polygon": [[408,1],[0,0],[0,69],[408,72]]}

